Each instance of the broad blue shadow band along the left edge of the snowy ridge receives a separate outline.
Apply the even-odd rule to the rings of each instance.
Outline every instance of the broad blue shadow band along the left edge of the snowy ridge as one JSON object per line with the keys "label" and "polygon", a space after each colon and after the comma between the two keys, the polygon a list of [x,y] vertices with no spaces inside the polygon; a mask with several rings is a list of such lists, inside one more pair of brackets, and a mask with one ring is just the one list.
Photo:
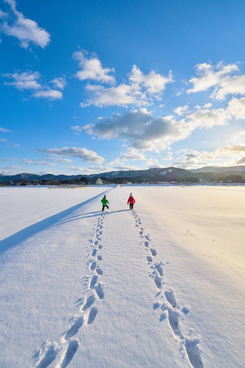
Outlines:
{"label": "broad blue shadow band along the left edge of the snowy ridge", "polygon": [[[100,197],[105,192],[102,192],[102,193],[96,195],[95,197],[89,198],[86,201],[81,202],[81,203],[79,203],[75,206],[67,208],[64,211],[56,213],[56,215],[52,215],[50,217],[47,217],[47,219],[41,220],[41,221],[39,221],[39,222],[37,222],[33,225],[30,225],[30,226],[26,227],[25,229],[22,229],[22,230],[18,231],[17,233],[1,240],[0,241],[0,254],[3,251],[5,251],[6,249],[13,247],[15,244],[17,244],[17,243],[21,242],[22,240],[28,238],[29,236],[32,236],[32,235],[38,233],[39,231],[41,231],[41,230],[43,230],[47,227],[50,227],[50,225],[52,223],[60,220],[62,217],[65,217],[65,216],[69,215],[71,212],[73,212],[74,210],[80,208],[81,206],[93,201],[93,199],[96,199],[96,198]],[[96,216],[96,215],[94,215],[94,216]],[[97,213],[97,216],[98,216],[98,213]],[[92,217],[92,216],[87,216],[87,217]],[[82,217],[82,218],[85,218],[85,217]]]}

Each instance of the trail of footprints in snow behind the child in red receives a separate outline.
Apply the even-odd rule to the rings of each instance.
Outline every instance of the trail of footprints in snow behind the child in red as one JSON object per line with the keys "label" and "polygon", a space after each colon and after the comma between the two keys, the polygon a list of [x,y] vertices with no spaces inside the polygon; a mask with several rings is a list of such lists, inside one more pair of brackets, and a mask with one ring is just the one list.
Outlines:
{"label": "trail of footprints in snow behind the child in red", "polygon": [[188,356],[190,364],[194,368],[202,368],[204,367],[204,363],[201,358],[200,337],[194,337],[194,339],[191,340],[184,336],[181,332],[181,323],[179,322],[180,318],[183,319],[184,315],[190,311],[190,307],[185,305],[182,310],[180,310],[176,302],[174,290],[164,287],[165,281],[163,271],[164,266],[169,262],[154,262],[153,257],[157,255],[157,251],[152,244],[150,235],[145,234],[144,228],[142,227],[142,222],[135,210],[132,210],[132,215],[135,219],[135,226],[140,228],[139,235],[143,239],[141,244],[146,248],[147,254],[150,254],[146,256],[146,260],[150,265],[151,271],[149,276],[153,278],[156,287],[159,289],[158,293],[156,294],[157,301],[154,303],[153,308],[160,308],[162,311],[160,315],[160,321],[168,318],[169,325],[171,326],[173,333],[179,339],[183,354]]}

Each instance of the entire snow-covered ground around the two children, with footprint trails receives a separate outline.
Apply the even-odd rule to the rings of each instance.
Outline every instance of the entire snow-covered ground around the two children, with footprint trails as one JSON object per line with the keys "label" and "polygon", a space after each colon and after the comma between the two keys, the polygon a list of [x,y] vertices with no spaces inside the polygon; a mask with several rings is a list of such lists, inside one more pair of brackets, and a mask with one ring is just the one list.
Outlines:
{"label": "entire snow-covered ground around the two children, with footprint trails", "polygon": [[245,187],[14,187],[0,203],[0,367],[245,366]]}

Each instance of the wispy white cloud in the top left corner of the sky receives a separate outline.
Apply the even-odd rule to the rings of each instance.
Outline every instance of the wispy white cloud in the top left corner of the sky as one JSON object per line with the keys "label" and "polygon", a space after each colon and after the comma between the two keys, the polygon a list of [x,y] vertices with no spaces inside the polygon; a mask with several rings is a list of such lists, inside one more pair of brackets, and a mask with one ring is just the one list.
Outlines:
{"label": "wispy white cloud in the top left corner of the sky", "polygon": [[[26,18],[22,13],[16,10],[16,2],[14,0],[4,0],[11,7],[10,15],[12,22],[9,24],[3,21],[1,31],[7,36],[14,36],[21,42],[21,46],[25,49],[31,43],[36,46],[41,46],[43,49],[50,42],[50,34],[45,29],[39,27],[37,22]],[[0,18],[6,16],[6,13],[1,12]]]}

